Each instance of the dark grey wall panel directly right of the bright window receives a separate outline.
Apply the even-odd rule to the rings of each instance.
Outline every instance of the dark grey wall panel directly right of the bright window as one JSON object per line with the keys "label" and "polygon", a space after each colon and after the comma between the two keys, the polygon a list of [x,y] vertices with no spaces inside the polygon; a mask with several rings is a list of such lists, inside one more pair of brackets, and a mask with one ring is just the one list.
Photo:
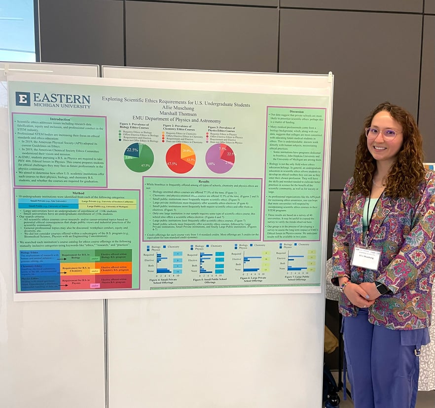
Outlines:
{"label": "dark grey wall panel directly right of the bright window", "polygon": [[123,4],[39,0],[41,62],[124,65]]}

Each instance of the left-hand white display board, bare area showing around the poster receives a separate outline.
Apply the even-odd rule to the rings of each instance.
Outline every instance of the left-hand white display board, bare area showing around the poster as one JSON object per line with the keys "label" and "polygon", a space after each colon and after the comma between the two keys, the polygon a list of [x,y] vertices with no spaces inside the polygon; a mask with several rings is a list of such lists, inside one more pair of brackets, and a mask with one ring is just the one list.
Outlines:
{"label": "left-hand white display board, bare area showing around the poster", "polygon": [[97,77],[96,66],[0,63],[0,405],[105,406],[103,301],[14,302],[7,81],[9,74]]}

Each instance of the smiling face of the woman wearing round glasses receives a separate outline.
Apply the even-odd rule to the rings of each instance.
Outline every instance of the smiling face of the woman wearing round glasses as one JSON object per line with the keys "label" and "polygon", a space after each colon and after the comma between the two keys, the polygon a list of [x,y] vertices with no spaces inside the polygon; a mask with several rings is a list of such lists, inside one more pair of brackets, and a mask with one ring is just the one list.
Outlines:
{"label": "smiling face of the woman wearing round glasses", "polygon": [[[393,119],[390,112],[382,110],[373,116],[371,128],[377,129],[379,134],[374,139],[367,137],[367,148],[376,161],[393,164],[397,160],[397,155],[403,144],[403,128],[400,123]],[[397,132],[396,137],[391,141],[385,141],[383,132],[392,129]]]}

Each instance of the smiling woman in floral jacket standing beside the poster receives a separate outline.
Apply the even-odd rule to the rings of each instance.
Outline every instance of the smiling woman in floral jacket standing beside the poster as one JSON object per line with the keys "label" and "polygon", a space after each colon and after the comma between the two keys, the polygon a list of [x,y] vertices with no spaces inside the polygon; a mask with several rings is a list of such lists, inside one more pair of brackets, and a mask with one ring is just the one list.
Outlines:
{"label": "smiling woman in floral jacket standing beside the poster", "polygon": [[435,277],[435,174],[405,109],[367,117],[333,234],[332,283],[355,408],[415,407]]}

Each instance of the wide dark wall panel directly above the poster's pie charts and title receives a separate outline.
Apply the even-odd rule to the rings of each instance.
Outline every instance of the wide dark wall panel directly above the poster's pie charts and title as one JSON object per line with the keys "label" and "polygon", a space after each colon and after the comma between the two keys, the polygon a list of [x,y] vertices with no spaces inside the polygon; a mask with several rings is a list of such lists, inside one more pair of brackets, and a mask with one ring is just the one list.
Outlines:
{"label": "wide dark wall panel directly above the poster's pie charts and title", "polygon": [[276,72],[278,10],[126,3],[127,66]]}

